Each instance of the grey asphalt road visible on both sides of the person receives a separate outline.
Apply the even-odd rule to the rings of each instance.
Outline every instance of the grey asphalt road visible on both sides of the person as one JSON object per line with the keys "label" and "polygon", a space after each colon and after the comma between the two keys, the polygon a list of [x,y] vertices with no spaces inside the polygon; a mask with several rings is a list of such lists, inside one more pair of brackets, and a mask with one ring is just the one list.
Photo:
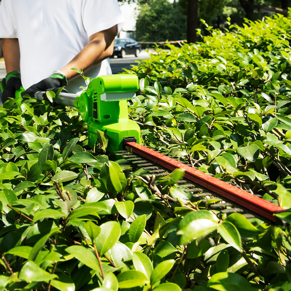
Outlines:
{"label": "grey asphalt road visible on both sides of the person", "polygon": [[[111,65],[112,74],[118,74],[123,71],[123,68],[130,69],[130,65],[135,64],[136,61],[141,59],[149,58],[150,55],[147,52],[141,52],[139,58],[136,58],[134,55],[128,55],[125,58],[110,58],[109,62]],[[0,61],[0,81],[5,77],[5,63]]]}

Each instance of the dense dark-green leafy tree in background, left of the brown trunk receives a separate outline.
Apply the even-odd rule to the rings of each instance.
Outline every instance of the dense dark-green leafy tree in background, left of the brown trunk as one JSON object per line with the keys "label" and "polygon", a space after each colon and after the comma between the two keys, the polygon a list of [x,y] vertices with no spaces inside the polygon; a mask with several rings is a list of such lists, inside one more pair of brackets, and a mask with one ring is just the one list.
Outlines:
{"label": "dense dark-green leafy tree in background, left of the brown trunk", "polygon": [[136,19],[139,41],[159,42],[186,38],[186,16],[179,5],[153,0],[140,5]]}

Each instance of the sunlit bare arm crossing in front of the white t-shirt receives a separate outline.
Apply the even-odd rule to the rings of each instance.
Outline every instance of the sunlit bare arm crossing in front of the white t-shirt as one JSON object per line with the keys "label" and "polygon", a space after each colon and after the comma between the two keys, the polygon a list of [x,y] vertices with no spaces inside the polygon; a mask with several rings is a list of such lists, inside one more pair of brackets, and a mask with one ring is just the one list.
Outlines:
{"label": "sunlit bare arm crossing in front of the white t-shirt", "polygon": [[61,68],[68,81],[74,79],[79,74],[72,68],[77,68],[86,72],[94,68],[98,63],[108,58],[113,53],[114,38],[117,26],[93,34],[90,42],[77,54],[70,63]]}

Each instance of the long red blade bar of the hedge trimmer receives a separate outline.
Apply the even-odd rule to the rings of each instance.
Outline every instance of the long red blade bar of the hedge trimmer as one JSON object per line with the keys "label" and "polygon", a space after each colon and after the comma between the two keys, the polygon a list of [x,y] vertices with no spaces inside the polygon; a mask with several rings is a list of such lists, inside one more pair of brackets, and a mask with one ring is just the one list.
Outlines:
{"label": "long red blade bar of the hedge trimmer", "polygon": [[144,157],[145,159],[148,159],[170,171],[173,171],[175,168],[184,169],[184,178],[195,182],[210,191],[213,191],[223,198],[226,198],[265,219],[268,219],[269,221],[275,222],[276,217],[274,214],[286,211],[278,205],[274,205],[269,201],[252,195],[206,173],[198,171],[195,168],[187,166],[186,164],[178,162],[159,152],[146,148],[143,145],[139,145],[138,143],[128,142],[126,143],[126,148],[128,151],[134,152],[135,154]]}

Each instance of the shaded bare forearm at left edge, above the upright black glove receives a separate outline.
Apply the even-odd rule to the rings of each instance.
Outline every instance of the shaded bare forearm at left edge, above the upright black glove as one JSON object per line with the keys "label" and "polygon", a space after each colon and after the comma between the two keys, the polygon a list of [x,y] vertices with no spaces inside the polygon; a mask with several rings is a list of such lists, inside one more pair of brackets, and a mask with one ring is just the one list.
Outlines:
{"label": "shaded bare forearm at left edge, above the upright black glove", "polygon": [[18,38],[3,38],[2,51],[5,60],[6,73],[20,72],[20,51]]}

